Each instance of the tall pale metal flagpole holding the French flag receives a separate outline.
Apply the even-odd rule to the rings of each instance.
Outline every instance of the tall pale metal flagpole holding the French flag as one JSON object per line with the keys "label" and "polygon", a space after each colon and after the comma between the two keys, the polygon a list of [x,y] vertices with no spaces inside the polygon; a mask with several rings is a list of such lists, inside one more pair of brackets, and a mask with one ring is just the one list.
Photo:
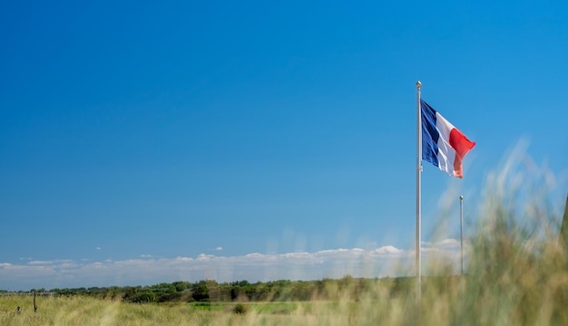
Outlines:
{"label": "tall pale metal flagpole holding the French flag", "polygon": [[416,101],[416,300],[420,303],[422,292],[422,277],[421,277],[421,264],[420,264],[420,243],[421,243],[421,226],[420,226],[420,212],[422,208],[421,201],[421,183],[422,183],[422,112],[420,110],[420,81],[416,82],[417,101]]}

